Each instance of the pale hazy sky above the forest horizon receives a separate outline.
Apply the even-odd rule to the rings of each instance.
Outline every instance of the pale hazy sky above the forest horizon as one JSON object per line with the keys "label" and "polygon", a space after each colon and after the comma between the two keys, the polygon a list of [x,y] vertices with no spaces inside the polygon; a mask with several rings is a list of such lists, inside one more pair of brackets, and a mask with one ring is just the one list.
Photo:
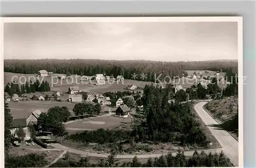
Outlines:
{"label": "pale hazy sky above the forest horizon", "polygon": [[237,22],[4,23],[4,59],[238,59]]}

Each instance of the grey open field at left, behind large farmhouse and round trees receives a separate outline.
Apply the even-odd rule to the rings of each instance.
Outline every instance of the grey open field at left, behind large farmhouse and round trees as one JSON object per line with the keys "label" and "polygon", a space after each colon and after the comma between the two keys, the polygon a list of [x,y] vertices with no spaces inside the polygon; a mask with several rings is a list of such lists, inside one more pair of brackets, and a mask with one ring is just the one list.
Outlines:
{"label": "grey open field at left, behind large farmhouse and round trees", "polygon": [[55,106],[67,106],[71,111],[75,103],[69,102],[56,102],[56,101],[21,101],[21,102],[8,102],[11,109],[11,114],[14,118],[26,118],[29,114],[39,109],[41,112],[47,112],[49,108]]}

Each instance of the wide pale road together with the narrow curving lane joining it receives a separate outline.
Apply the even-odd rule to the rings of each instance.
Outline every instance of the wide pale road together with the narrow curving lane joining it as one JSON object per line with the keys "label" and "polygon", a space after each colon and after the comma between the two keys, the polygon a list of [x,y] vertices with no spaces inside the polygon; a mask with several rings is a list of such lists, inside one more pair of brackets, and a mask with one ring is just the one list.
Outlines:
{"label": "wide pale road together with the narrow curving lane joining it", "polygon": [[[195,105],[195,110],[198,113],[198,115],[202,118],[203,122],[205,125],[209,128],[210,132],[212,135],[215,136],[215,138],[219,141],[220,145],[222,148],[219,149],[210,149],[210,150],[198,150],[198,152],[205,151],[206,153],[220,153],[222,150],[223,152],[230,158],[232,163],[236,166],[238,166],[238,141],[234,139],[227,131],[225,130],[220,130],[216,129],[215,127],[212,127],[211,125],[219,125],[214,118],[212,118],[204,109],[203,106],[207,102],[200,102]],[[81,150],[77,150],[74,148],[66,147],[63,146],[59,143],[51,143],[51,146],[63,150],[63,151],[68,151],[71,153],[75,153],[81,156],[90,156],[90,157],[99,157],[99,158],[108,158],[109,154],[98,154],[98,153],[90,153],[90,152],[85,152]],[[160,154],[145,154],[145,155],[117,155],[117,159],[132,159],[134,156],[137,156],[138,158],[155,158],[159,157],[161,155],[166,155],[167,153],[160,153]],[[177,152],[173,153],[175,156]],[[194,151],[185,151],[184,154],[186,156],[193,156]]]}

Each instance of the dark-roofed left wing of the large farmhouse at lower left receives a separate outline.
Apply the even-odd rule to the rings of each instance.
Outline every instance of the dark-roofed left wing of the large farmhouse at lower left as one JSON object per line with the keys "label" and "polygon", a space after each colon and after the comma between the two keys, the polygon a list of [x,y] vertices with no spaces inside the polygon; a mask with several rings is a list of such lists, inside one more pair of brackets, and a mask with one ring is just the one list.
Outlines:
{"label": "dark-roofed left wing of the large farmhouse at lower left", "polygon": [[17,131],[18,131],[19,128],[22,128],[24,133],[25,133],[24,140],[29,140],[30,139],[30,132],[29,132],[29,128],[28,128],[28,125],[27,125],[27,119],[26,118],[15,118],[15,119],[13,119],[13,123],[12,123],[12,127],[11,127],[11,134],[14,137],[18,137]]}

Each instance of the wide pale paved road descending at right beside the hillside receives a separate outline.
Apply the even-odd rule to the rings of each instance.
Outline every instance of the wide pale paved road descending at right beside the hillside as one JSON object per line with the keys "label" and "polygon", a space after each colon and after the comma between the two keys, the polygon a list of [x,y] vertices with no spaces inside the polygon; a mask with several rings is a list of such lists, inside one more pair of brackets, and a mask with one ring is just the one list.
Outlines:
{"label": "wide pale paved road descending at right beside the hillside", "polygon": [[[203,106],[207,102],[200,102],[195,105],[195,110],[198,115],[202,118],[204,124],[209,128],[212,135],[219,141],[223,152],[230,158],[232,163],[238,166],[238,141],[233,138],[227,131],[220,129],[220,127],[216,127],[219,124],[212,118],[204,109]],[[213,127],[213,125],[215,125]]]}

